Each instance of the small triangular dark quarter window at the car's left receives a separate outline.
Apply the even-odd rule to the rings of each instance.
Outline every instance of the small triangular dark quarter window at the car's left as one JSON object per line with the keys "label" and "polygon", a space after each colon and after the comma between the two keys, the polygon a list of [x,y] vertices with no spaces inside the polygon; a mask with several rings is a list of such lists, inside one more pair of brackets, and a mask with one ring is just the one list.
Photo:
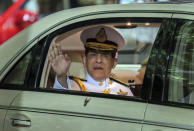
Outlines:
{"label": "small triangular dark quarter window at the car's left", "polygon": [[1,85],[34,86],[41,58],[42,44],[37,44],[27,52],[8,72]]}

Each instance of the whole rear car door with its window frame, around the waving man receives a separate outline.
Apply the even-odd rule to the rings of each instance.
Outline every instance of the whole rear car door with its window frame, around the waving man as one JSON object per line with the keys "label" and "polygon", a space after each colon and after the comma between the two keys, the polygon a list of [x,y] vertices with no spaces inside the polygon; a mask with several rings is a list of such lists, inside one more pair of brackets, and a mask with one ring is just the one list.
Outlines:
{"label": "whole rear car door with its window frame, around the waving man", "polygon": [[[42,87],[42,85],[44,85],[42,80],[46,77],[45,72],[47,72],[45,70],[48,69],[44,68],[47,66],[46,53],[56,34],[62,34],[61,31],[64,33],[65,31],[68,32],[72,29],[79,29],[82,26],[86,26],[86,23],[87,25],[92,26],[107,24],[107,22],[111,23],[113,20],[127,20],[130,18],[130,15],[131,17],[136,16],[151,22],[152,20],[160,18],[156,13],[130,14],[130,11],[127,14],[120,11],[114,13],[107,12],[104,14],[96,13],[91,14],[91,16],[88,14],[88,16],[82,17],[81,20],[80,16],[77,19],[75,17],[72,18],[73,20],[72,23],[69,24],[70,26],[65,25],[70,23],[68,20],[67,23],[63,24],[64,28],[61,28],[63,25],[60,23],[60,29],[57,30],[56,28],[52,28],[52,30],[49,31],[53,32],[53,30],[55,30],[55,32],[48,37],[48,34],[43,34],[36,46],[31,48],[23,56],[23,59],[20,59],[20,61],[17,62],[18,64],[15,65],[15,67],[17,67],[20,62],[23,60],[25,61],[25,59],[28,59],[30,56],[30,59],[28,59],[29,61],[25,65],[27,66],[27,70],[24,73],[25,87],[19,88],[22,92],[17,95],[7,112],[5,131],[140,131],[142,129],[144,113],[147,107],[147,100],[145,97],[124,97],[90,92],[53,90],[45,89],[44,86]],[[145,18],[145,15],[151,18]],[[168,19],[171,14],[162,14],[162,17],[164,16]],[[156,19],[154,17],[156,17]],[[84,20],[84,18],[86,20]],[[24,66],[24,64],[22,65]],[[10,74],[12,74],[12,72],[10,72]],[[7,76],[9,76],[9,74]],[[146,90],[142,91],[142,94],[145,96],[146,93]]]}

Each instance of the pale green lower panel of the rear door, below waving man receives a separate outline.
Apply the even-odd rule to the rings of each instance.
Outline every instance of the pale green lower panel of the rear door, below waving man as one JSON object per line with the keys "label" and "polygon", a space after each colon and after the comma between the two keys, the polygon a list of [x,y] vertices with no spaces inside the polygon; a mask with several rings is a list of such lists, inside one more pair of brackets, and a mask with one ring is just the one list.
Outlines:
{"label": "pale green lower panel of the rear door, below waving man", "polygon": [[[32,49],[32,51],[37,50],[36,47]],[[33,52],[32,54],[38,55]],[[23,59],[27,57],[28,53]],[[34,60],[41,61],[32,58],[32,62],[29,61],[29,63],[36,63]],[[27,69],[32,69],[30,67],[34,68],[34,65],[29,65]],[[38,71],[35,69],[33,72]],[[28,73],[25,76],[36,75]],[[5,130],[121,129],[125,131],[130,129],[140,131],[146,105],[146,100],[135,97],[61,91],[52,88],[40,88],[34,91],[24,89],[12,102],[7,112]]]}

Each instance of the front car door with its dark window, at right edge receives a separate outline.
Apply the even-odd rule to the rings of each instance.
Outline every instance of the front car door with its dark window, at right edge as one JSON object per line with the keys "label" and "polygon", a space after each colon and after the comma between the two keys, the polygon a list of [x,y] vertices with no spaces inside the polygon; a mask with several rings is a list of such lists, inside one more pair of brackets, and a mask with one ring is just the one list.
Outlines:
{"label": "front car door with its dark window, at right edge", "polygon": [[193,20],[193,15],[175,13],[160,32],[160,51],[152,57],[160,66],[150,70],[155,75],[143,131],[194,130]]}

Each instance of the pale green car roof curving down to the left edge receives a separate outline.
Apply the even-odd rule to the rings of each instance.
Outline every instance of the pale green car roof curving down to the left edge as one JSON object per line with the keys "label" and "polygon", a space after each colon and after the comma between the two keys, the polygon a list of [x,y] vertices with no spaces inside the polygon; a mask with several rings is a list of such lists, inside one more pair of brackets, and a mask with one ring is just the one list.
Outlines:
{"label": "pale green car roof curving down to the left edge", "polygon": [[[19,51],[22,51],[29,43],[33,42],[42,34],[49,32],[56,25],[62,24],[73,18],[79,18],[92,14],[103,14],[106,12],[133,12],[133,13],[181,13],[194,14],[194,3],[132,3],[132,4],[110,4],[110,5],[95,5],[73,8],[59,11],[51,14],[35,22],[28,28],[24,29],[10,40],[0,46],[0,74],[1,69],[14,59]],[[24,39],[25,38],[25,39]],[[5,49],[6,48],[6,49]]]}

